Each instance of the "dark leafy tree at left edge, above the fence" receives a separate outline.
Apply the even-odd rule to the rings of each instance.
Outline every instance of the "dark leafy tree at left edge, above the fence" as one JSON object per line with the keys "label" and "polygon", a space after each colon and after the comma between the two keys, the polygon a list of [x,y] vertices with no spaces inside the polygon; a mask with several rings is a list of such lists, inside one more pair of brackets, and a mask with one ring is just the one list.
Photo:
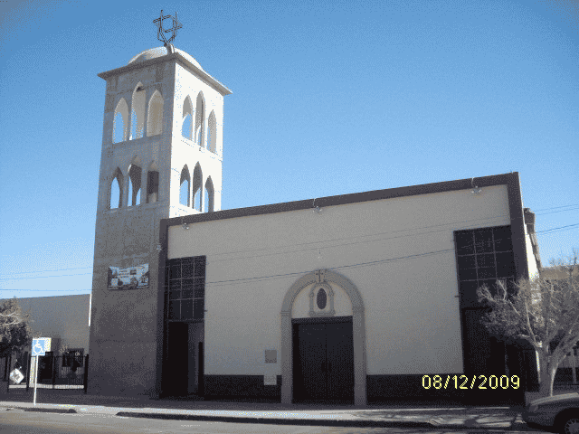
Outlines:
{"label": "dark leafy tree at left edge, above the fence", "polygon": [[0,357],[24,352],[30,347],[33,332],[28,324],[30,314],[24,314],[16,297],[0,304]]}

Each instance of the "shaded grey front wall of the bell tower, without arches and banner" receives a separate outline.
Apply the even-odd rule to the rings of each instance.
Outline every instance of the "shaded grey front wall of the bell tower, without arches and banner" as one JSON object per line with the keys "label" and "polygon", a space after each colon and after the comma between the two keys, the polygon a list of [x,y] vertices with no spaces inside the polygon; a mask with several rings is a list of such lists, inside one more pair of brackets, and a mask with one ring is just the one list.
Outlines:
{"label": "shaded grey front wall of the bell tower, without arches and banner", "polygon": [[[169,62],[120,74],[117,86],[107,81],[100,160],[99,207],[95,228],[92,278],[89,393],[105,395],[147,394],[155,389],[157,357],[157,265],[159,222],[169,216],[171,138],[175,67]],[[146,91],[146,106],[155,90],[163,96],[161,135],[112,144],[112,120],[120,98],[131,110],[132,92],[140,82]],[[109,100],[112,103],[109,104]],[[147,112],[146,112],[147,118]],[[117,167],[124,175],[128,195],[128,168],[141,167],[140,204],[109,210],[111,178]],[[147,203],[147,170],[159,172],[158,199]],[[125,203],[131,204],[130,198]],[[149,287],[109,290],[110,266],[149,266]]]}

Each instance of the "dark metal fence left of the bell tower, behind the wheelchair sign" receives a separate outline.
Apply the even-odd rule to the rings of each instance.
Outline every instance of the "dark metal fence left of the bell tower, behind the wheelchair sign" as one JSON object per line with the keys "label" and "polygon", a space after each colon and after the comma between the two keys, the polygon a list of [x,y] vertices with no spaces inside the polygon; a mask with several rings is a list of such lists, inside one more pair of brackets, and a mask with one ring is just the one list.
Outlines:
{"label": "dark metal fence left of the bell tower, behind the wheelchair sign", "polygon": [[38,371],[37,388],[78,389],[87,392],[89,355],[45,355],[33,357],[24,354],[0,358],[0,379],[6,382],[5,392],[34,387],[34,374]]}

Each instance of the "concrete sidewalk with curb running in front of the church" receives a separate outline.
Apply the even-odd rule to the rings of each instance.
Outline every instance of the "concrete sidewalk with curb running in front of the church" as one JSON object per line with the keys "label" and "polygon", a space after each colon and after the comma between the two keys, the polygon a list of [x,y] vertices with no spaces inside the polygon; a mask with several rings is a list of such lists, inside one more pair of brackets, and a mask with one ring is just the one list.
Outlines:
{"label": "concrete sidewalk with curb running in front of the church", "polygon": [[365,428],[527,429],[522,407],[470,407],[449,403],[390,402],[327,406],[229,401],[149,400],[101,397],[82,392],[39,390],[0,394],[0,414],[6,410],[100,413],[135,418],[205,420]]}

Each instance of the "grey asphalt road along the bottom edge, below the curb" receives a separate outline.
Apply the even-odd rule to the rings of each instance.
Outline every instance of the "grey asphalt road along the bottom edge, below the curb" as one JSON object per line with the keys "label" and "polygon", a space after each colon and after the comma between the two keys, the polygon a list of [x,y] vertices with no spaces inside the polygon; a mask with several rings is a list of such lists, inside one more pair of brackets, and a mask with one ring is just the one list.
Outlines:
{"label": "grey asphalt road along the bottom edge, below the curb", "polygon": [[103,414],[42,413],[4,410],[0,413],[0,433],[10,434],[143,434],[143,433],[207,433],[207,434],[379,434],[379,433],[546,433],[538,429],[412,429],[412,428],[333,428],[305,425],[271,425],[250,423],[205,422],[191,420],[155,420],[124,418]]}

